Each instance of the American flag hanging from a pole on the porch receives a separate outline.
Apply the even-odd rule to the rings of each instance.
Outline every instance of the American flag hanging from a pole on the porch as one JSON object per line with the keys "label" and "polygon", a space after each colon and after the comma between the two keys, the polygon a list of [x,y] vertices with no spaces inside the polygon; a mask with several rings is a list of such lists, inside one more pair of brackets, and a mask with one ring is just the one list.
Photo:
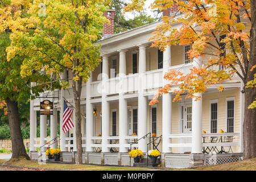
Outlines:
{"label": "American flag hanging from a pole on the porch", "polygon": [[67,133],[68,130],[74,127],[74,124],[71,118],[72,114],[73,114],[73,109],[69,109],[67,102],[64,100],[63,125],[62,125],[62,130],[64,131],[64,133]]}

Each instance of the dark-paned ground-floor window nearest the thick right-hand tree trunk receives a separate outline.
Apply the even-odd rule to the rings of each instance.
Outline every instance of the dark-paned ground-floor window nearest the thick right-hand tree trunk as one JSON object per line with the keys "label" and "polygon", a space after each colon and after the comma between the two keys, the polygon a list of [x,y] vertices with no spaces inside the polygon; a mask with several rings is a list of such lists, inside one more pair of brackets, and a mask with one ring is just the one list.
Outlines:
{"label": "dark-paned ground-floor window nearest the thick right-hand tree trunk", "polygon": [[233,133],[234,132],[234,100],[230,100],[226,102],[226,119],[227,126],[226,132]]}

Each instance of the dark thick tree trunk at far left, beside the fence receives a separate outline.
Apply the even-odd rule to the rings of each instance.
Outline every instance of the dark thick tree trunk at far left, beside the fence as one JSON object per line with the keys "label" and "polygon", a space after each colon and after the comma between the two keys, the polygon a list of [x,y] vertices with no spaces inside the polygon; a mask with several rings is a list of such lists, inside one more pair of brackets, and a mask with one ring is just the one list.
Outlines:
{"label": "dark thick tree trunk at far left, beside the fence", "polygon": [[8,118],[11,134],[11,147],[13,150],[13,155],[11,156],[11,159],[30,159],[25,150],[25,146],[22,139],[22,133],[20,131],[18,102],[11,101],[10,98],[7,98],[6,104],[8,109]]}

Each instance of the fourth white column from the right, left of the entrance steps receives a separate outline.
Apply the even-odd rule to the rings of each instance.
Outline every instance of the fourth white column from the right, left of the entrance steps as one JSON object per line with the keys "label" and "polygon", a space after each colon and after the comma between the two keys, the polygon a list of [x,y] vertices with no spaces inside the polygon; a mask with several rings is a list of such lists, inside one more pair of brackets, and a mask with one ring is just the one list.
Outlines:
{"label": "fourth white column from the right, left of the entrance steps", "polygon": [[127,100],[123,98],[123,78],[126,76],[126,50],[119,51],[119,152],[127,152]]}

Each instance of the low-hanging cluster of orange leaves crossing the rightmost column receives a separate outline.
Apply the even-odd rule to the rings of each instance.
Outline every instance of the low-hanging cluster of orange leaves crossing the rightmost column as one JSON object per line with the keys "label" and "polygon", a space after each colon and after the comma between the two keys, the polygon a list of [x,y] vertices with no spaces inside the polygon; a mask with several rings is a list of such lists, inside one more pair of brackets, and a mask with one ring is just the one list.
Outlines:
{"label": "low-hanging cluster of orange leaves crossing the rightmost column", "polygon": [[[200,97],[194,95],[195,93],[204,93],[207,90],[207,86],[218,84],[229,79],[231,76],[232,73],[227,73],[224,70],[215,71],[208,68],[193,67],[188,75],[172,69],[164,75],[164,79],[168,80],[169,84],[158,89],[158,93],[155,94],[149,105],[157,104],[159,102],[158,98],[163,96],[163,94],[169,93],[171,90],[174,93],[174,102],[181,100],[182,94],[186,94],[185,98],[200,100]],[[172,88],[175,85],[179,85],[179,87],[177,89]],[[224,87],[218,86],[218,90],[222,92]]]}

